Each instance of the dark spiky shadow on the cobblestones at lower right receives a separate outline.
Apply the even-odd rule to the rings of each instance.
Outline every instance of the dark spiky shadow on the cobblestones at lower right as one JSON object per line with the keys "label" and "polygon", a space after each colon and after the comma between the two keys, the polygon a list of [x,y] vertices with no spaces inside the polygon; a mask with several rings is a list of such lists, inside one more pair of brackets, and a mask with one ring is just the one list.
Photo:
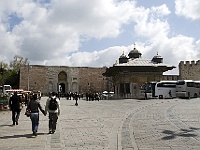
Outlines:
{"label": "dark spiky shadow on the cobblestones at lower right", "polygon": [[189,129],[180,129],[180,131],[175,132],[171,130],[164,130],[162,133],[167,134],[167,136],[163,137],[162,140],[172,140],[177,136],[181,137],[196,137],[197,134],[194,134],[195,130],[199,130],[199,128],[190,127]]}

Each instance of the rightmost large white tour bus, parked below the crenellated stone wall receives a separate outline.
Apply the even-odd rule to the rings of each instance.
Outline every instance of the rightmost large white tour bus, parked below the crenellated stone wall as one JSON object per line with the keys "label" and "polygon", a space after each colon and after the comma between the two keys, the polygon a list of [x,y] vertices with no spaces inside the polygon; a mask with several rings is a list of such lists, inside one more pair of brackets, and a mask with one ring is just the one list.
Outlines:
{"label": "rightmost large white tour bus, parked below the crenellated stone wall", "polygon": [[176,83],[176,96],[179,98],[196,98],[199,89],[193,80],[178,80]]}

